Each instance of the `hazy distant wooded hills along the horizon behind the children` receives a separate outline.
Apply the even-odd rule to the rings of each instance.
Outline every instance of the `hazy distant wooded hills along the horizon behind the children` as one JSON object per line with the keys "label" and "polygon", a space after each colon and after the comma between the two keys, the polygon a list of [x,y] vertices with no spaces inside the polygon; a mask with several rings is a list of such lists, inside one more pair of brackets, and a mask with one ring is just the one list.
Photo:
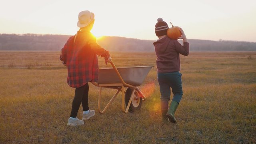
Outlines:
{"label": "hazy distant wooded hills along the horizon behind the children", "polygon": [[[52,34],[0,34],[0,50],[60,51],[69,37]],[[188,41],[191,51],[256,51],[256,42],[194,39]],[[103,36],[97,42],[109,51],[154,51],[154,40]]]}

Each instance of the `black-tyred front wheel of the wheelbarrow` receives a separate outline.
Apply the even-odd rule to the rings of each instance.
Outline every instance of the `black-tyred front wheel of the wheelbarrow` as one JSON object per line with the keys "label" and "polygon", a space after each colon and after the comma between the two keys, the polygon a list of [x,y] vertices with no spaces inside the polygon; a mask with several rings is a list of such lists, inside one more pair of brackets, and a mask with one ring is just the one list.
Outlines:
{"label": "black-tyred front wheel of the wheelbarrow", "polygon": [[[128,106],[130,97],[132,96],[132,89],[127,88],[125,92],[125,104]],[[139,96],[139,93],[137,90],[135,90],[133,96],[132,96],[132,102],[130,104],[129,112],[134,112],[135,110],[140,110],[142,105],[142,98]]]}

